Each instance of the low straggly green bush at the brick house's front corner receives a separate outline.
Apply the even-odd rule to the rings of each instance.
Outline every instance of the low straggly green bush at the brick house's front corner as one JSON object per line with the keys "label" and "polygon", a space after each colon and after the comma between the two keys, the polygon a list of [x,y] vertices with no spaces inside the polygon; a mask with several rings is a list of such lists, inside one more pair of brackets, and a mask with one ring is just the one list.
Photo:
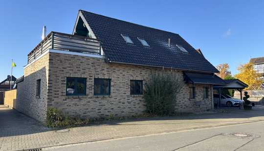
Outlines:
{"label": "low straggly green bush at the brick house's front corner", "polygon": [[89,124],[89,119],[65,116],[56,108],[47,109],[47,126],[52,128],[74,127]]}

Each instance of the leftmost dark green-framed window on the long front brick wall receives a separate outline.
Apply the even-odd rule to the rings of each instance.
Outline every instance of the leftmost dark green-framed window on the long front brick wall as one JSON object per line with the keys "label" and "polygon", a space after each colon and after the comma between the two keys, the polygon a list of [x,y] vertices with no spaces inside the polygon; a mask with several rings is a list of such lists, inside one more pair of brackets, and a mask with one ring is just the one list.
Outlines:
{"label": "leftmost dark green-framed window on the long front brick wall", "polygon": [[86,95],[86,78],[66,77],[66,95]]}

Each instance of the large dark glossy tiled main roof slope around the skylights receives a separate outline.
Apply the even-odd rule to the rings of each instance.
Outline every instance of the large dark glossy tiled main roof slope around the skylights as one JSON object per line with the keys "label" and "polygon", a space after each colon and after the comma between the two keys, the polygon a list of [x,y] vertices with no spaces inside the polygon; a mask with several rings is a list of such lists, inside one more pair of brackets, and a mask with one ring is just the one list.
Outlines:
{"label": "large dark glossy tiled main roof slope around the skylights", "polygon": [[[109,62],[218,73],[219,71],[178,34],[80,10],[94,36],[102,40]],[[121,34],[129,36],[128,44]],[[143,46],[138,38],[147,41]],[[170,47],[168,39],[170,40]],[[176,45],[184,47],[184,53]]]}

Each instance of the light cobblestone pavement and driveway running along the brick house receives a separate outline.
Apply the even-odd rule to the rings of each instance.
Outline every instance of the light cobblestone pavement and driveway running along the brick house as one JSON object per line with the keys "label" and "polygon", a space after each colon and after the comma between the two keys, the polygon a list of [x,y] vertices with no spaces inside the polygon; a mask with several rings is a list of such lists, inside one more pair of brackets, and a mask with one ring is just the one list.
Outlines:
{"label": "light cobblestone pavement and driveway running along the brick house", "polygon": [[0,151],[44,148],[132,135],[255,122],[264,120],[263,109],[264,107],[256,107],[252,111],[243,111],[234,108],[231,113],[108,121],[101,125],[70,128],[68,132],[56,132],[16,110],[0,106]]}

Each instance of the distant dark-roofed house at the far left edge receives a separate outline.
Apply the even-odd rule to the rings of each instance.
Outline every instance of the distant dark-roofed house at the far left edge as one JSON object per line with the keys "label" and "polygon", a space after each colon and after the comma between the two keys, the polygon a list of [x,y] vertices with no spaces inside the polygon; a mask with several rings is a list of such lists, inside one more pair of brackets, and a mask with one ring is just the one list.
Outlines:
{"label": "distant dark-roofed house at the far left edge", "polygon": [[11,88],[13,89],[14,84],[17,80],[15,76],[12,76],[12,79],[10,77],[11,76],[8,75],[6,79],[0,82],[0,105],[3,104],[4,92],[10,90],[10,83]]}

